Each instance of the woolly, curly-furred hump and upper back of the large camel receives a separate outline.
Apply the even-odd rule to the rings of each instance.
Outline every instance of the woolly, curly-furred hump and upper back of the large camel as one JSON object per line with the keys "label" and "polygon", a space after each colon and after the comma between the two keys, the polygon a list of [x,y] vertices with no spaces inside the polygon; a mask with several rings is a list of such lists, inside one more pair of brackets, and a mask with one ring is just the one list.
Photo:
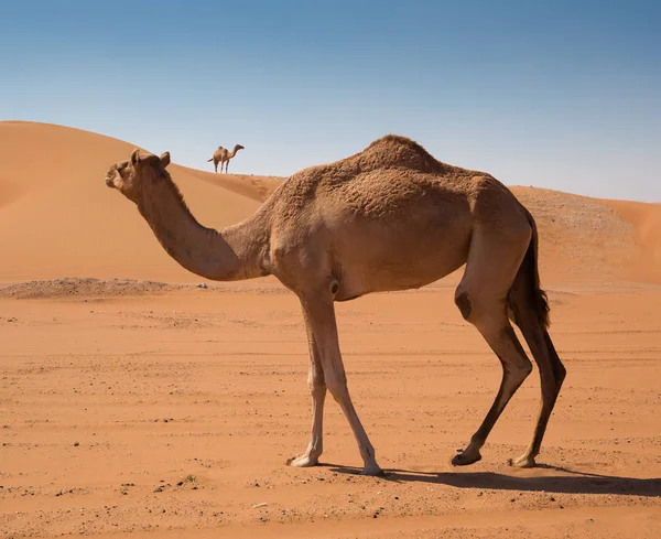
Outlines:
{"label": "woolly, curly-furred hump and upper back of the large camel", "polygon": [[[345,160],[302,170],[277,190],[280,215],[342,212],[365,218],[393,217],[412,209],[469,207],[489,174],[442,163],[420,144],[389,134]],[[500,187],[498,187],[500,188]]]}

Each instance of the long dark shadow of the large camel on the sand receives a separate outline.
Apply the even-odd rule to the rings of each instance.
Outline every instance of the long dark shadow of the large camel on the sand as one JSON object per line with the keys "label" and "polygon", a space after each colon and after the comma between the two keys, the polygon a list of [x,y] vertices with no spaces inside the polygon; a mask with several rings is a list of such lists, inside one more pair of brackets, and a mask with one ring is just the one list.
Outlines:
{"label": "long dark shadow of the large camel on the sand", "polygon": [[[360,468],[336,464],[321,464],[333,472],[360,474]],[[564,467],[538,464],[538,468],[562,474],[539,477],[517,477],[495,472],[416,472],[412,470],[384,470],[383,478],[394,483],[431,483],[456,488],[495,491],[525,491],[566,494],[615,494],[622,496],[661,496],[661,478],[638,479],[577,472]]]}

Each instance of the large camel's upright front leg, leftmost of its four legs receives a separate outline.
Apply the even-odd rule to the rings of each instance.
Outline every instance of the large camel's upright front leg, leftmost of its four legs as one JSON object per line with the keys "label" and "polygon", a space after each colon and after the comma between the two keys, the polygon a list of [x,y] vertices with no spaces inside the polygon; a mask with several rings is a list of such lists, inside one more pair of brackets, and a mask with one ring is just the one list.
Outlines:
{"label": "large camel's upright front leg, leftmost of its four legs", "polygon": [[[303,313],[305,316],[305,313]],[[307,331],[307,344],[310,346],[310,370],[307,374],[307,386],[312,396],[312,434],[307,451],[301,456],[290,459],[288,464],[291,466],[315,466],[319,462],[319,456],[324,451],[324,401],[326,400],[326,381],[324,380],[324,369],[319,351],[312,333],[312,327],[305,320]]]}

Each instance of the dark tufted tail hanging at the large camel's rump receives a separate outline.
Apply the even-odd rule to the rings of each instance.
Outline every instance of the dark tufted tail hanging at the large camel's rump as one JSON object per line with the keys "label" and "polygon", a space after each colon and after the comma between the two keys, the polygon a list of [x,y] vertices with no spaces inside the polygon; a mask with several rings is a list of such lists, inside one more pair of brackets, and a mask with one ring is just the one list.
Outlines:
{"label": "dark tufted tail hanging at the large camel's rump", "polygon": [[540,287],[538,230],[534,218],[530,215],[530,212],[524,207],[523,211],[525,212],[525,217],[532,228],[532,237],[530,238],[528,251],[525,251],[525,256],[523,257],[523,261],[519,267],[512,289],[510,290],[508,305],[513,313],[513,320],[517,325],[520,326],[519,321],[521,320],[521,316],[523,316],[523,313],[520,313],[520,310],[523,308],[532,311],[537,315],[540,326],[546,330],[550,324],[549,299],[546,292]]}

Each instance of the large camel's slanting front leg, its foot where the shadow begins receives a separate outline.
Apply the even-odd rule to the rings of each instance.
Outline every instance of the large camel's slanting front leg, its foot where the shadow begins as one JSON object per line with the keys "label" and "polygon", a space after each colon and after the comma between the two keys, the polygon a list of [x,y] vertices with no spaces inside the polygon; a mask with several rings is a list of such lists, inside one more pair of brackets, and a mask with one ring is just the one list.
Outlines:
{"label": "large camel's slanting front leg, its foot where the shadow begins", "polygon": [[349,421],[358,442],[360,456],[362,456],[365,463],[362,474],[381,475],[383,472],[377,464],[375,449],[365,432],[362,423],[360,423],[360,419],[358,419],[358,414],[349,397],[347,377],[339,352],[333,298],[328,292],[315,292],[301,298],[301,302],[317,345],[326,387]]}

